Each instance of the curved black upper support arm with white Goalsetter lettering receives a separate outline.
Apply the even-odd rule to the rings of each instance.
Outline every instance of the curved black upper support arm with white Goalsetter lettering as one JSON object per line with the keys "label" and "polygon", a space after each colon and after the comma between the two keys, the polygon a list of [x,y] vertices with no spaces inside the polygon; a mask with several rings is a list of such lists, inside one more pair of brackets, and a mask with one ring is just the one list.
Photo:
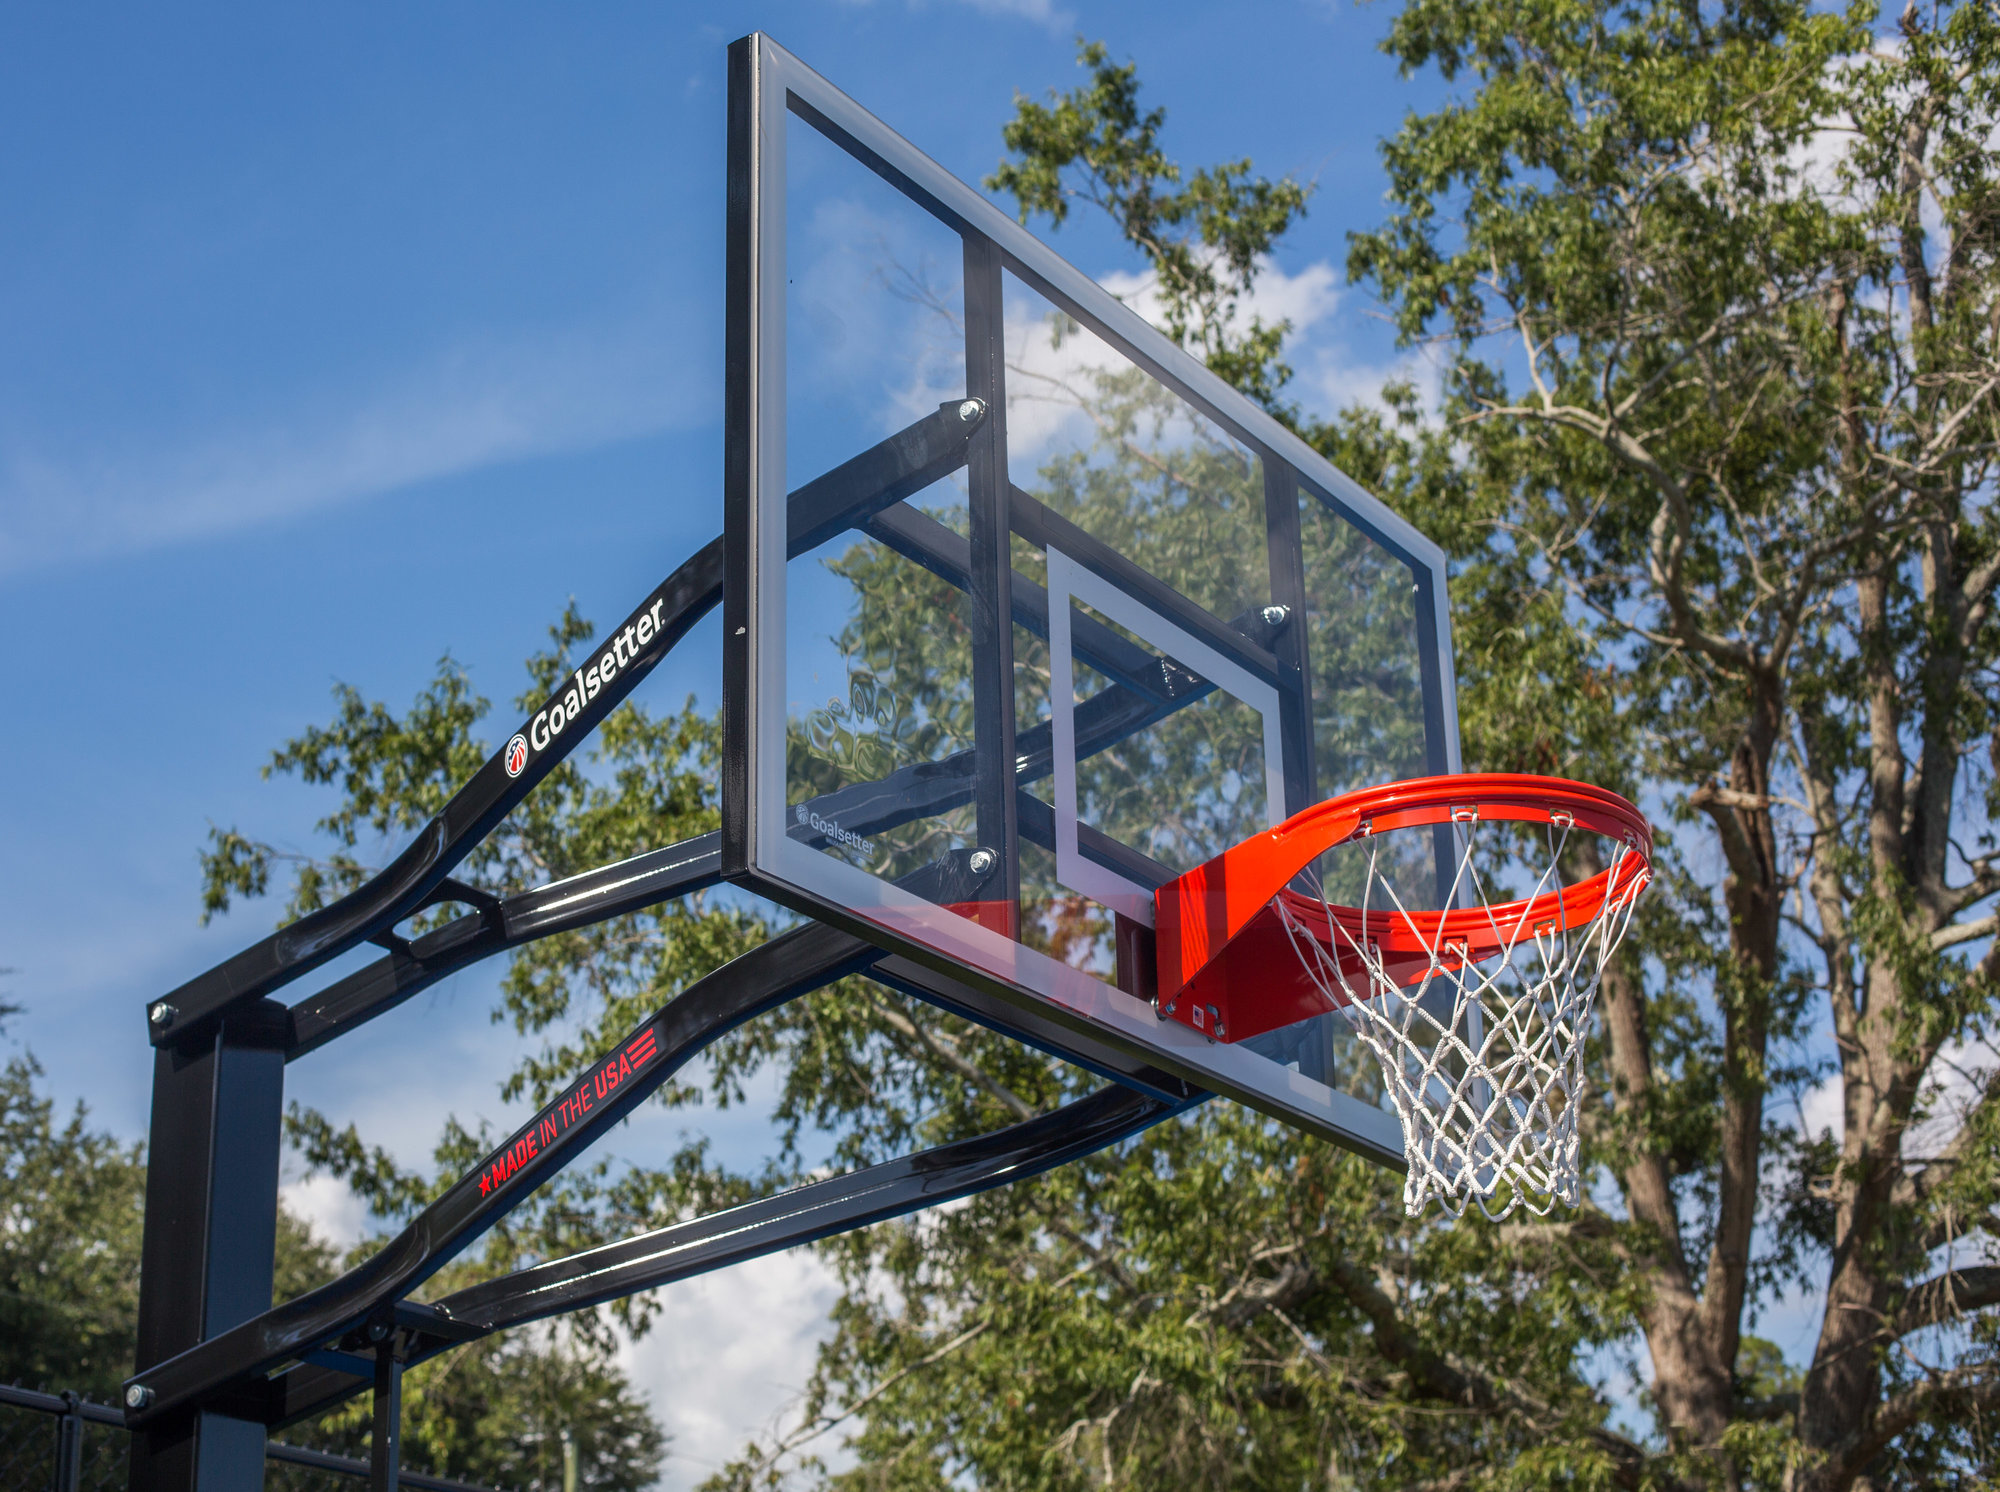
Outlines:
{"label": "curved black upper support arm with white Goalsetter lettering", "polygon": [[[946,400],[906,430],[836,466],[790,498],[788,548],[802,554],[866,522],[966,464],[978,400]],[[722,600],[722,540],[670,574],[620,628],[602,658],[562,680],[548,702],[472,774],[394,862],[332,906],[198,974],[148,1010],[154,1046],[182,1042],[232,1006],[268,996],[354,948],[388,934],[436,900],[452,868],[644,680],[674,644]],[[404,956],[408,950],[398,948]]]}

